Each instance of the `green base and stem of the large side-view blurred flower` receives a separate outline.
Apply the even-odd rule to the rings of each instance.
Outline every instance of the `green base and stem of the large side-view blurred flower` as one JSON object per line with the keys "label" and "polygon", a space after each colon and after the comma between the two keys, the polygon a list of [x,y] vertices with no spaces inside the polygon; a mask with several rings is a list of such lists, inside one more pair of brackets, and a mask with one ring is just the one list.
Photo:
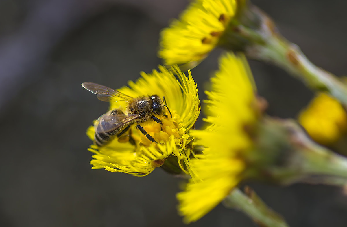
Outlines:
{"label": "green base and stem of the large side-view blurred flower", "polygon": [[283,185],[346,184],[347,158],[313,142],[294,120],[266,117],[258,130],[249,176]]}

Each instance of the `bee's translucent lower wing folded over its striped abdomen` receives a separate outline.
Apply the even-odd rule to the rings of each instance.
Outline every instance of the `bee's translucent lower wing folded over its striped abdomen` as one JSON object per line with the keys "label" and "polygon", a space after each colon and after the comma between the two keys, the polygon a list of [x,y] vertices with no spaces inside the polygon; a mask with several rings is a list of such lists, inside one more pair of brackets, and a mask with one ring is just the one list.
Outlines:
{"label": "bee's translucent lower wing folded over its striped abdomen", "polygon": [[94,123],[95,132],[108,133],[117,130],[129,122],[140,118],[137,114],[118,114],[118,115],[101,115]]}

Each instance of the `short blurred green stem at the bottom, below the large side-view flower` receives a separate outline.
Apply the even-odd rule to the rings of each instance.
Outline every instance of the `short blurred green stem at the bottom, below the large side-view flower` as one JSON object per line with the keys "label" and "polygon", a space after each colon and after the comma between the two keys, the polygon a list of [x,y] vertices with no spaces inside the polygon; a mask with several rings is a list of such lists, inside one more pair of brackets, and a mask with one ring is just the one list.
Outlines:
{"label": "short blurred green stem at the bottom, below the large side-view flower", "polygon": [[243,211],[259,226],[288,227],[286,221],[266,206],[253,190],[247,187],[245,191],[247,195],[240,189],[234,189],[223,201],[223,204],[228,208]]}

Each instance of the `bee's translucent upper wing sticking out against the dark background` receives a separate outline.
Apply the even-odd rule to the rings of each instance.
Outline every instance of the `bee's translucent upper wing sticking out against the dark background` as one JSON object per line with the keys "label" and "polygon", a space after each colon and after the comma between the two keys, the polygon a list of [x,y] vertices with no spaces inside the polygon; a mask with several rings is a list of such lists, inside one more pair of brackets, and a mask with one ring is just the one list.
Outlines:
{"label": "bee's translucent upper wing sticking out against the dark background", "polygon": [[96,97],[98,97],[98,99],[101,101],[107,102],[114,97],[120,97],[121,99],[124,99],[126,101],[130,101],[133,99],[132,97],[124,93],[121,93],[119,91],[113,90],[112,88],[97,83],[84,82],[82,83],[82,87],[96,94]]}

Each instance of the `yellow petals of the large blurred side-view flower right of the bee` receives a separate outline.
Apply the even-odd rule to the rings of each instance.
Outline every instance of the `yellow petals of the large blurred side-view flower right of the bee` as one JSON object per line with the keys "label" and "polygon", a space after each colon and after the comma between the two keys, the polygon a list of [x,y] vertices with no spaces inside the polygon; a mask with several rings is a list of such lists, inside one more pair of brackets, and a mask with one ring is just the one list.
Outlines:
{"label": "yellow petals of the large blurred side-view flower right of the bee", "polygon": [[211,82],[212,91],[206,92],[208,117],[204,119],[208,127],[191,130],[197,138],[194,144],[206,148],[191,160],[192,179],[185,191],[177,194],[186,223],[204,216],[240,182],[245,169],[242,156],[252,146],[245,128],[254,125],[259,114],[245,58],[223,56]]}

